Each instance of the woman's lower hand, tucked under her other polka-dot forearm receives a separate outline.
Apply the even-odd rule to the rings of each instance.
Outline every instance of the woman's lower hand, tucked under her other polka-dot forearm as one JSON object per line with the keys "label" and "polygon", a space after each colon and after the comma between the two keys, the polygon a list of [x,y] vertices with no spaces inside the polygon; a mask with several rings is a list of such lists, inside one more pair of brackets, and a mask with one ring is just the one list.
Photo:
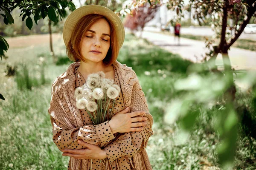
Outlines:
{"label": "woman's lower hand, tucked under her other polka-dot forearm", "polygon": [[[79,143],[80,142],[80,143]],[[76,159],[105,159],[107,154],[105,150],[94,144],[88,144],[82,140],[78,140],[78,143],[87,148],[85,149],[64,149],[63,156],[70,156]]]}

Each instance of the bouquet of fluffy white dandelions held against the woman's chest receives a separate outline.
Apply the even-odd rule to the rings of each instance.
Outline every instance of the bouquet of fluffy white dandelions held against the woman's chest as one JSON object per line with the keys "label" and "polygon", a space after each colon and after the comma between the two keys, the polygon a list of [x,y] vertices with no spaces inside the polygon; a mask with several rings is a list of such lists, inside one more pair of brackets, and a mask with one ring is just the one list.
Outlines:
{"label": "bouquet of fluffy white dandelions held against the woman's chest", "polygon": [[93,124],[98,125],[111,118],[119,92],[120,87],[106,79],[104,72],[90,74],[86,83],[75,90],[76,107],[85,109]]}

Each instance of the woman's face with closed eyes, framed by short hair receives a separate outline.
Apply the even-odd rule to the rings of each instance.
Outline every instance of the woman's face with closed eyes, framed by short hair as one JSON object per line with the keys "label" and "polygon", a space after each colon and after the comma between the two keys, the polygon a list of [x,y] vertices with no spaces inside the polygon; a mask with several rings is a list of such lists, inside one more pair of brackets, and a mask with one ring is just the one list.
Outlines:
{"label": "woman's face with closed eyes, framed by short hair", "polygon": [[110,47],[110,26],[105,19],[96,21],[81,40],[80,53],[91,62],[102,62]]}

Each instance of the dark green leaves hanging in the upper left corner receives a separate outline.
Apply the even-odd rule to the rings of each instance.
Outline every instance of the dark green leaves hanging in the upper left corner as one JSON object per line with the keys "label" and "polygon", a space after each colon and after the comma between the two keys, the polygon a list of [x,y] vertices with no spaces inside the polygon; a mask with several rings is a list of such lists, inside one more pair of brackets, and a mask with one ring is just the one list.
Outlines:
{"label": "dark green leaves hanging in the upper left corner", "polygon": [[[15,8],[19,8],[19,17],[22,16],[22,21],[26,19],[26,26],[31,30],[33,26],[31,15],[33,15],[36,25],[38,25],[40,18],[44,19],[46,16],[53,22],[58,23],[58,17],[60,20],[65,17],[65,8],[67,7],[70,8],[71,11],[76,9],[76,6],[70,0],[3,0],[0,4],[0,12],[4,12],[4,14],[2,13],[0,15],[3,17],[3,21],[6,25],[12,25],[14,23],[14,18],[12,17],[11,12]],[[0,36],[0,42],[2,43],[0,48],[0,57],[2,58],[5,55],[4,51],[8,50],[9,45],[2,36]]]}

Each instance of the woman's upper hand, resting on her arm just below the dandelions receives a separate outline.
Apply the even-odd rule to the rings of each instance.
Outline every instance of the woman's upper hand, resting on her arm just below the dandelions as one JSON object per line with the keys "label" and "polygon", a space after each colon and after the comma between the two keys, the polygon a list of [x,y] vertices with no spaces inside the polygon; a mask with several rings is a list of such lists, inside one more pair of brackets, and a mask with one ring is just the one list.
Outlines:
{"label": "woman's upper hand, resting on her arm just below the dandelions", "polygon": [[[126,133],[143,130],[143,127],[147,125],[147,117],[135,117],[144,114],[144,111],[137,111],[127,113],[129,108],[116,113],[108,122],[112,133]],[[144,121],[144,122],[139,122]]]}

